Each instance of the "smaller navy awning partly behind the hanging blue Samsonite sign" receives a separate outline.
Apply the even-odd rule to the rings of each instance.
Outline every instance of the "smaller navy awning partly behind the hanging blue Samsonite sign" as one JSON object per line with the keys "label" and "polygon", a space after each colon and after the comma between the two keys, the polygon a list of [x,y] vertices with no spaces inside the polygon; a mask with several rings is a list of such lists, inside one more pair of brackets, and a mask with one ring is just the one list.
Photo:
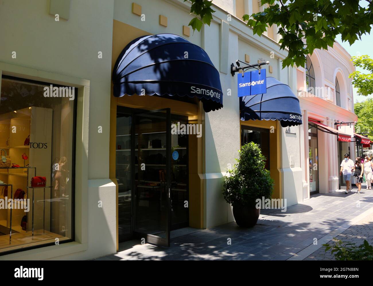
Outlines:
{"label": "smaller navy awning partly behind the hanging blue Samsonite sign", "polygon": [[282,127],[302,124],[298,98],[288,85],[272,77],[267,77],[267,93],[240,97],[239,110],[243,121],[280,120]]}

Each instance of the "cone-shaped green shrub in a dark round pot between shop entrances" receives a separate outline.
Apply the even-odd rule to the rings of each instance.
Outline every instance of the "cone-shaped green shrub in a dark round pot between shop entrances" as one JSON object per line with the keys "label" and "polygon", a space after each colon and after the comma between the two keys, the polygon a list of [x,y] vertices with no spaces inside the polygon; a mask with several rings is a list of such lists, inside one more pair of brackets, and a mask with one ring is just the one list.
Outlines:
{"label": "cone-shaped green shrub in a dark round pot between shop entrances", "polygon": [[273,179],[264,169],[266,158],[254,142],[241,147],[233,170],[224,176],[223,195],[233,206],[233,216],[240,227],[253,227],[259,218],[256,199],[271,198]]}

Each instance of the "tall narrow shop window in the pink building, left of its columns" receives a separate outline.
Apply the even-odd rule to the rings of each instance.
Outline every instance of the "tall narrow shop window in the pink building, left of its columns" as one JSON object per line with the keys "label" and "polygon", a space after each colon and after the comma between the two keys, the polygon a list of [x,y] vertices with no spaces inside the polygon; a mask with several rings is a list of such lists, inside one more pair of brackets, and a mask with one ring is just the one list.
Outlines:
{"label": "tall narrow shop window in the pink building, left of its columns", "polygon": [[308,146],[310,168],[310,194],[319,192],[319,154],[317,147],[317,128],[308,123]]}

